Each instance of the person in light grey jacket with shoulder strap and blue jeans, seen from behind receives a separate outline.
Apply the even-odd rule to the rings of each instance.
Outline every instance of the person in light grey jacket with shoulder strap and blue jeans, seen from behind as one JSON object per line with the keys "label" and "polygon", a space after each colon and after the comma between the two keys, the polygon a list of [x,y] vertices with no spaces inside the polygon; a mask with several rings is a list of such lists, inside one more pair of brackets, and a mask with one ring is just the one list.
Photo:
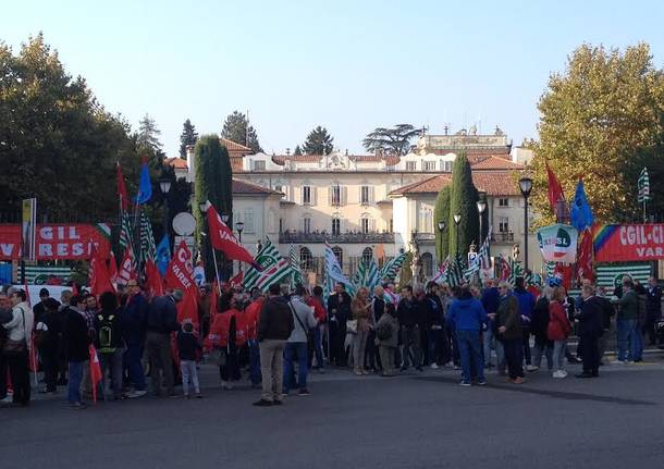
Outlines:
{"label": "person in light grey jacket with shoulder strap and blue jeans, seen from behind", "polygon": [[299,386],[300,396],[308,396],[310,393],[307,390],[307,373],[308,373],[308,356],[307,356],[307,331],[318,325],[318,321],[313,317],[313,309],[306,304],[307,291],[304,286],[297,285],[295,294],[291,297],[288,306],[293,313],[294,329],[291,336],[286,341],[284,348],[284,394],[288,394],[291,387],[296,383],[293,382],[294,366],[293,360],[297,357],[297,386]]}

